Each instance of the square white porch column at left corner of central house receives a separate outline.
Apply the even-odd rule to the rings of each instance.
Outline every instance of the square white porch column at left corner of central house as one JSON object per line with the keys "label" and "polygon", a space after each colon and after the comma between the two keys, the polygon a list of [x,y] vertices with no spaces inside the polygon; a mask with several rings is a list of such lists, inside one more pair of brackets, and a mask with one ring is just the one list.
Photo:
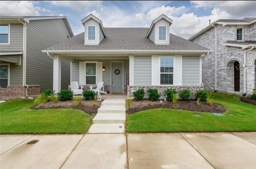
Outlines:
{"label": "square white porch column at left corner of central house", "polygon": [[53,90],[60,91],[61,86],[61,59],[59,55],[53,56]]}

